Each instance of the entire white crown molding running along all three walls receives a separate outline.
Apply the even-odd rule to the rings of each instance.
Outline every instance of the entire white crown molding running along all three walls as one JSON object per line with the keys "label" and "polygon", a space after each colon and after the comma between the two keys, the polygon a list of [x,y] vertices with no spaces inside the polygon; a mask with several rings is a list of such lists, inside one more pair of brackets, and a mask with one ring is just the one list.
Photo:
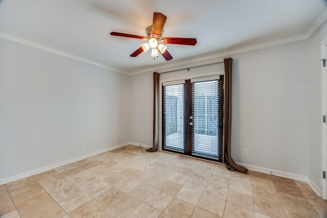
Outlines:
{"label": "entire white crown molding running along all three walls", "polygon": [[221,50],[221,51],[217,51],[217,52],[213,52],[213,53],[207,53],[207,54],[194,56],[194,57],[190,57],[190,58],[185,58],[185,59],[181,59],[181,60],[174,60],[174,61],[170,61],[170,62],[164,63],[164,64],[158,64],[158,65],[153,65],[150,67],[140,68],[135,71],[124,71],[124,70],[117,69],[117,68],[114,68],[114,67],[111,67],[108,65],[103,65],[103,64],[100,64],[100,63],[97,63],[94,61],[87,60],[82,57],[78,57],[78,56],[66,53],[64,51],[60,51],[49,45],[45,45],[45,44],[42,44],[42,43],[39,43],[36,41],[32,41],[30,39],[26,39],[26,38],[23,38],[20,36],[15,36],[13,34],[5,33],[2,31],[0,31],[0,38],[6,39],[9,41],[13,41],[13,42],[17,42],[20,44],[24,44],[24,45],[27,45],[30,47],[34,47],[36,49],[40,49],[40,50],[43,50],[46,52],[60,55],[60,56],[66,57],[66,58],[74,59],[74,60],[81,61],[81,62],[84,62],[87,64],[91,64],[91,65],[94,65],[97,67],[109,69],[109,70],[112,70],[115,72],[119,72],[121,74],[131,76],[131,75],[136,75],[136,74],[142,74],[143,72],[153,72],[153,71],[160,72],[167,68],[177,67],[177,66],[180,66],[183,64],[189,64],[189,63],[193,63],[193,62],[222,58],[222,57],[235,55],[235,54],[239,54],[239,53],[250,52],[250,51],[259,50],[259,49],[265,49],[267,47],[272,47],[272,46],[276,46],[276,45],[282,45],[282,44],[292,43],[292,42],[296,42],[296,41],[307,40],[327,20],[326,5],[327,5],[327,3],[325,3],[323,5],[323,7],[320,9],[320,11],[311,20],[311,22],[308,24],[305,31],[303,31],[300,34],[295,34],[295,35],[291,35],[291,36],[288,36],[285,38],[279,38],[279,39],[270,40],[270,41],[266,41],[266,42],[252,43],[252,44],[248,44],[248,45],[244,45],[244,46],[233,47],[231,49]]}

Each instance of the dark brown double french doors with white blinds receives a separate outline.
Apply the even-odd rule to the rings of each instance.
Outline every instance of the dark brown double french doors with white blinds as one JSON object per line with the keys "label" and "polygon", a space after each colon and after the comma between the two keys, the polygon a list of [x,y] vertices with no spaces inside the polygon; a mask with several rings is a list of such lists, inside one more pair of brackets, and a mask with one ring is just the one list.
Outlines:
{"label": "dark brown double french doors with white blinds", "polygon": [[223,76],[162,84],[162,149],[222,162]]}

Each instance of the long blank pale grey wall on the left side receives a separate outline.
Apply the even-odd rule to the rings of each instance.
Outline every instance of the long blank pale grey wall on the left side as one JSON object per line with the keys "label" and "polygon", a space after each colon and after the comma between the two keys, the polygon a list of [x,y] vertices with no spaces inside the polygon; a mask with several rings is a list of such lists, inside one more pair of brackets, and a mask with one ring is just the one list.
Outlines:
{"label": "long blank pale grey wall on the left side", "polygon": [[128,76],[4,39],[0,47],[0,181],[129,141]]}

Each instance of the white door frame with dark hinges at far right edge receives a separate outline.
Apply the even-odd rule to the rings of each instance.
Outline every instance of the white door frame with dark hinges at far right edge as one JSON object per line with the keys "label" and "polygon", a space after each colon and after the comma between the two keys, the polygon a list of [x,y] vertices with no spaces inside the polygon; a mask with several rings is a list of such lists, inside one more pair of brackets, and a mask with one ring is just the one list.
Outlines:
{"label": "white door frame with dark hinges at far right edge", "polygon": [[[327,59],[327,38],[321,41],[321,60]],[[326,63],[327,64],[327,63]],[[323,115],[327,116],[327,65],[323,67],[320,63],[321,71],[321,119]],[[326,123],[321,122],[321,173],[327,173],[327,120]],[[327,176],[327,175],[326,175]],[[321,197],[327,200],[327,178],[321,176]]]}

